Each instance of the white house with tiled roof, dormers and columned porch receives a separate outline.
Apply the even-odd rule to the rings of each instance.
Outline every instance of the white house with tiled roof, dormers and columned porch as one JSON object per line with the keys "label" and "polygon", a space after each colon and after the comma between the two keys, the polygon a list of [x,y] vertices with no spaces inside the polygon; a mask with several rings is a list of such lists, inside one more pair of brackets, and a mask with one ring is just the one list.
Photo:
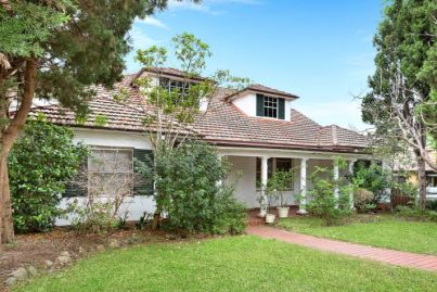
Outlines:
{"label": "white house with tiled roof, dormers and columned porch", "polygon": [[[152,153],[142,124],[149,105],[133,86],[133,80],[140,76],[147,76],[156,85],[169,88],[180,87],[183,78],[183,74],[173,68],[152,68],[126,76],[113,90],[97,86],[97,96],[89,103],[91,114],[82,124],[76,122],[73,112],[57,104],[36,107],[31,114],[39,112],[51,123],[70,126],[75,131],[75,141],[92,145],[94,154],[100,157],[114,157],[115,153],[123,157],[125,166],[108,166],[105,172],[110,175],[132,173],[132,167],[127,165],[132,165],[133,157],[142,158]],[[127,102],[117,101],[121,88],[128,92]],[[288,92],[250,85],[240,91],[218,90],[208,106],[201,104],[205,113],[194,123],[193,130],[203,140],[216,145],[220,155],[228,157],[232,164],[229,179],[233,180],[241,174],[236,196],[248,208],[259,207],[257,198],[261,189],[257,181],[265,183],[269,175],[278,169],[295,168],[288,204],[298,204],[299,212],[305,213],[306,200],[310,199],[307,180],[316,166],[334,167],[334,174],[339,176],[343,174],[334,166],[334,156],[342,156],[348,162],[347,172],[351,172],[357,160],[369,157],[364,151],[368,145],[364,136],[335,125],[317,124],[293,109],[297,99]],[[338,109],[338,114],[340,111]],[[101,119],[105,123],[100,123]],[[92,160],[88,160],[88,169],[95,172]],[[142,190],[132,187],[132,195],[126,202],[129,219],[138,219],[144,211],[153,212],[152,199],[144,195],[146,192],[141,192],[152,183],[147,186],[142,186]],[[297,202],[295,196],[299,193],[303,200]],[[70,189],[63,203],[72,196],[80,200],[79,194]]]}

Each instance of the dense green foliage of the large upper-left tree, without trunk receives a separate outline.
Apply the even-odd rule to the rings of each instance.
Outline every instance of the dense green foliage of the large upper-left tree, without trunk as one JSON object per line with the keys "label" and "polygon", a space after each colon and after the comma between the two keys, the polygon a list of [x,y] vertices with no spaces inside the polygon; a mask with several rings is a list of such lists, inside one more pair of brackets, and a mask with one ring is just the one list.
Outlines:
{"label": "dense green foliage of the large upper-left tree, without trunk", "polygon": [[[166,0],[8,1],[0,4],[0,52],[11,64],[8,78],[21,77],[23,59],[40,60],[37,92],[81,114],[93,94],[87,86],[112,86],[121,78],[136,17],[167,5]],[[15,82],[22,87],[22,82]],[[1,82],[0,82],[1,85]]]}

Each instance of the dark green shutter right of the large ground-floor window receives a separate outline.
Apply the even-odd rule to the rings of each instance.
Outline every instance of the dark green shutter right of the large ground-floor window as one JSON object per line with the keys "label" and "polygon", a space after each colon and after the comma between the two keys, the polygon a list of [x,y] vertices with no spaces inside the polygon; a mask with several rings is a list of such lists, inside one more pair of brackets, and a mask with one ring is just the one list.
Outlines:
{"label": "dark green shutter right of the large ground-floor window", "polygon": [[139,173],[140,163],[144,163],[153,167],[153,152],[152,150],[133,149],[133,174],[139,176],[140,179],[134,179],[133,194],[134,195],[153,195],[153,175],[145,177],[144,174]]}

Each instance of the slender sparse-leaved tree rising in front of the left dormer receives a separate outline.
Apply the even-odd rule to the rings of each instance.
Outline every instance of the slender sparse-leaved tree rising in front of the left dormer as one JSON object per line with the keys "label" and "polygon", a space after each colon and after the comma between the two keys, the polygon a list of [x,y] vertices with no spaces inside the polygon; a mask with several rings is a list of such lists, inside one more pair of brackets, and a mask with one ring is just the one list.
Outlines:
{"label": "slender sparse-leaved tree rising in front of the left dormer", "polygon": [[[171,152],[183,145],[188,138],[196,137],[192,126],[202,120],[209,101],[217,94],[220,86],[236,90],[248,81],[231,76],[229,71],[218,71],[208,78],[201,77],[206,69],[206,58],[210,56],[211,52],[208,45],[192,34],[183,33],[172,38],[172,54],[182,74],[180,88],[169,89],[162,84],[156,86],[154,79],[147,76],[136,80],[142,97],[150,105],[143,124],[147,139],[154,147],[156,161],[170,157]],[[152,46],[146,50],[139,50],[137,61],[144,68],[156,72],[160,82],[164,75],[162,67],[168,56],[166,48]],[[205,109],[202,109],[201,104],[204,104]],[[158,179],[159,174],[155,173],[155,180]],[[157,186],[153,229],[157,228],[164,202],[167,200],[168,193],[159,190]]]}

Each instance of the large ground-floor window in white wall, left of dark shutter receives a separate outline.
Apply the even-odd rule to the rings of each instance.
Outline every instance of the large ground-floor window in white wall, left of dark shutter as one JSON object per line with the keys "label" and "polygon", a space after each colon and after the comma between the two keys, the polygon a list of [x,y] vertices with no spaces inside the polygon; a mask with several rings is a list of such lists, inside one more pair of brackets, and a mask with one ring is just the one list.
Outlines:
{"label": "large ground-floor window in white wall, left of dark shutter", "polygon": [[94,148],[88,157],[88,193],[126,196],[133,192],[133,150]]}

